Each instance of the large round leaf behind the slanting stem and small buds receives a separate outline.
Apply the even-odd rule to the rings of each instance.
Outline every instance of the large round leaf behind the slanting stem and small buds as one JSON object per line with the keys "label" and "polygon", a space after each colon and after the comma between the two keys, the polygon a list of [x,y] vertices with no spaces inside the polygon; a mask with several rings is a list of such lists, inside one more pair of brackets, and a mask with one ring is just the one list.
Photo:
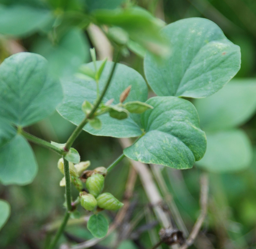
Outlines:
{"label": "large round leaf behind the slanting stem and small buds", "polygon": [[[101,63],[102,62],[97,61],[98,68]],[[93,63],[89,63],[86,66],[91,69],[94,68]],[[113,62],[106,62],[99,80],[100,92],[108,80],[112,66]],[[63,80],[62,85],[65,97],[62,105],[58,108],[58,112],[64,118],[78,125],[84,119],[84,113],[81,109],[84,100],[86,99],[90,103],[93,103],[97,98],[96,82],[93,80],[70,78]],[[148,88],[142,76],[128,66],[117,64],[115,74],[111,80],[103,102],[107,102],[109,99],[114,98],[113,104],[118,104],[120,94],[129,85],[132,85],[132,90],[124,103],[126,101],[139,100],[145,102],[147,100]],[[98,118],[102,123],[102,128],[100,130],[95,130],[89,125],[86,125],[84,130],[99,136],[133,137],[141,135],[139,114],[131,114],[124,120],[113,119],[109,117],[108,113],[100,115]]]}

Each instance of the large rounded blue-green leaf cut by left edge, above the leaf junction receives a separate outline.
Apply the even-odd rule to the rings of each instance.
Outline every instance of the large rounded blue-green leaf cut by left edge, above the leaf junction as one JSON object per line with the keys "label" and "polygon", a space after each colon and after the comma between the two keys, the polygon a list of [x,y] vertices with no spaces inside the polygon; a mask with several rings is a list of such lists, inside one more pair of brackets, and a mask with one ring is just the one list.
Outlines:
{"label": "large rounded blue-green leaf cut by left edge, above the leaf junction", "polygon": [[49,116],[61,102],[58,81],[47,75],[47,61],[33,53],[18,53],[0,65],[1,116],[28,126]]}

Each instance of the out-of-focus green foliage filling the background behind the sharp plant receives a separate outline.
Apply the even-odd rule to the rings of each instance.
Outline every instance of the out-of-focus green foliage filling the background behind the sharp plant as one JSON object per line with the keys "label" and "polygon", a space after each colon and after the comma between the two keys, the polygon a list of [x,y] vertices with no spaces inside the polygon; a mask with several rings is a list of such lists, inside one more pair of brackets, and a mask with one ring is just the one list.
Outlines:
{"label": "out-of-focus green foliage filling the background behind the sharp plant", "polygon": [[[133,8],[134,4],[148,12],[139,7]],[[128,12],[124,14],[123,9],[116,9],[118,6],[128,8]],[[149,13],[159,19],[154,19]],[[112,30],[112,33],[106,31],[107,35],[114,46],[122,42],[127,43],[130,51],[123,50],[125,56],[121,63],[143,75],[145,51],[159,51],[159,54],[165,51],[162,38],[156,35],[157,30],[163,26],[162,21],[169,24],[189,17],[204,17],[212,20],[229,40],[241,47],[241,69],[233,82],[240,84],[241,88],[227,91],[225,95],[224,87],[223,92],[221,90],[217,93],[221,95],[220,97],[216,94],[202,100],[192,100],[196,106],[198,105],[200,118],[206,120],[205,124],[213,123],[213,127],[216,117],[214,115],[209,117],[205,106],[208,105],[208,108],[214,112],[217,108],[213,106],[214,103],[216,105],[221,103],[216,110],[218,113],[222,110],[224,114],[217,117],[217,120],[220,124],[224,123],[224,126],[220,125],[217,130],[210,128],[207,131],[209,138],[214,140],[211,147],[217,152],[207,154],[207,158],[205,157],[196,167],[189,170],[163,168],[164,181],[190,231],[200,209],[198,204],[200,173],[205,168],[212,171],[209,173],[208,216],[203,230],[191,248],[256,248],[256,96],[254,94],[256,2],[254,0],[0,0],[0,61],[12,53],[36,52],[49,60],[54,76],[67,77],[75,73],[82,63],[91,60],[89,48],[95,46],[95,40],[88,25],[94,22],[122,28],[121,31]],[[155,44],[154,47],[151,42]],[[99,50],[97,56],[98,58],[102,56]],[[245,90],[242,100],[246,100],[244,109],[238,110],[242,103],[239,94],[248,82],[251,88]],[[251,97],[248,97],[249,93],[252,94]],[[152,96],[152,92],[149,96]],[[215,98],[212,103],[211,98]],[[200,106],[203,106],[204,110],[201,110]],[[226,109],[228,111],[225,113]],[[240,118],[231,122],[231,125],[225,126],[225,122],[232,118],[227,113],[232,111],[235,116],[240,111]],[[205,115],[208,116],[205,118]],[[210,121],[207,121],[207,118]],[[73,129],[74,125],[56,112],[50,118],[28,127],[27,131],[47,141],[64,143]],[[221,133],[220,139],[211,132]],[[239,134],[242,134],[242,138],[238,135],[238,141],[241,142],[236,143],[236,138],[230,135],[230,132],[241,132]],[[223,133],[227,136],[224,140]],[[62,175],[57,169],[58,156],[35,144],[31,145],[39,164],[34,182],[26,186],[0,185],[0,198],[8,200],[12,208],[10,219],[0,232],[0,248],[43,248],[45,224],[58,221],[64,213],[64,189],[59,186]],[[91,160],[91,169],[99,166],[107,167],[122,153],[117,139],[92,136],[84,131],[76,140],[74,147],[80,153],[81,160]],[[216,170],[214,167],[216,164],[220,170]],[[233,170],[233,166],[236,171]],[[228,169],[221,170],[223,167]],[[128,172],[129,162],[123,160],[106,178],[105,190],[122,200]],[[161,187],[160,191],[162,191]],[[167,199],[165,200],[168,202]],[[118,248],[150,248],[157,242],[160,226],[153,222],[155,218],[139,179],[135,185],[132,203],[130,220],[127,222],[133,224],[133,237],[119,241]],[[107,215],[109,220],[113,220],[113,213]],[[140,232],[139,229],[145,224],[149,226]],[[113,232],[100,243],[105,247],[94,248],[114,248],[118,232],[120,233],[120,231]],[[67,233],[80,239],[91,238],[85,224],[68,226]],[[62,236],[60,243],[65,241],[73,243],[67,234]],[[162,248],[167,246],[162,245]]]}

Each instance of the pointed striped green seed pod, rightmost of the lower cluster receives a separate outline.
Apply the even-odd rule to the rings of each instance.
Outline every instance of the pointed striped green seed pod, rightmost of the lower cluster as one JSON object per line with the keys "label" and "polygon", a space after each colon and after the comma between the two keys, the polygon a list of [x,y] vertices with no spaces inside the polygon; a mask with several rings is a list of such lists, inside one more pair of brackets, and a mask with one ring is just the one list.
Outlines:
{"label": "pointed striped green seed pod, rightmost of the lower cluster", "polygon": [[124,205],[110,193],[100,194],[96,200],[100,208],[107,210],[117,210]]}

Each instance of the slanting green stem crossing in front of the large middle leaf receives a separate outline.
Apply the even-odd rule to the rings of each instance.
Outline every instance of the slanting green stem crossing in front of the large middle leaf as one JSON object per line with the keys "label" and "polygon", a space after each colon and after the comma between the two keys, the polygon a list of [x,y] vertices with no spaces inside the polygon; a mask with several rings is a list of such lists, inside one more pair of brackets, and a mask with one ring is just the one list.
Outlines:
{"label": "slanting green stem crossing in front of the large middle leaf", "polygon": [[110,82],[112,80],[113,74],[114,74],[115,69],[116,69],[116,64],[117,64],[117,61],[119,59],[119,54],[120,54],[120,52],[118,51],[117,55],[116,55],[116,59],[115,59],[114,65],[113,65],[112,70],[111,70],[111,73],[110,73],[110,75],[108,77],[108,81],[107,81],[107,83],[106,83],[106,85],[105,85],[105,87],[104,87],[100,97],[97,99],[97,102],[93,106],[92,111],[88,115],[86,115],[86,117],[82,120],[82,122],[76,127],[76,129],[73,131],[71,136],[68,138],[68,141],[67,141],[66,146],[64,148],[65,151],[68,151],[71,148],[72,144],[76,140],[76,137],[80,134],[80,132],[82,131],[84,126],[87,124],[88,119],[91,119],[93,117],[94,113],[97,111],[97,109],[98,109],[98,107],[99,107],[99,105],[100,105],[104,95],[106,94],[106,92],[108,90],[109,84],[110,84]]}

